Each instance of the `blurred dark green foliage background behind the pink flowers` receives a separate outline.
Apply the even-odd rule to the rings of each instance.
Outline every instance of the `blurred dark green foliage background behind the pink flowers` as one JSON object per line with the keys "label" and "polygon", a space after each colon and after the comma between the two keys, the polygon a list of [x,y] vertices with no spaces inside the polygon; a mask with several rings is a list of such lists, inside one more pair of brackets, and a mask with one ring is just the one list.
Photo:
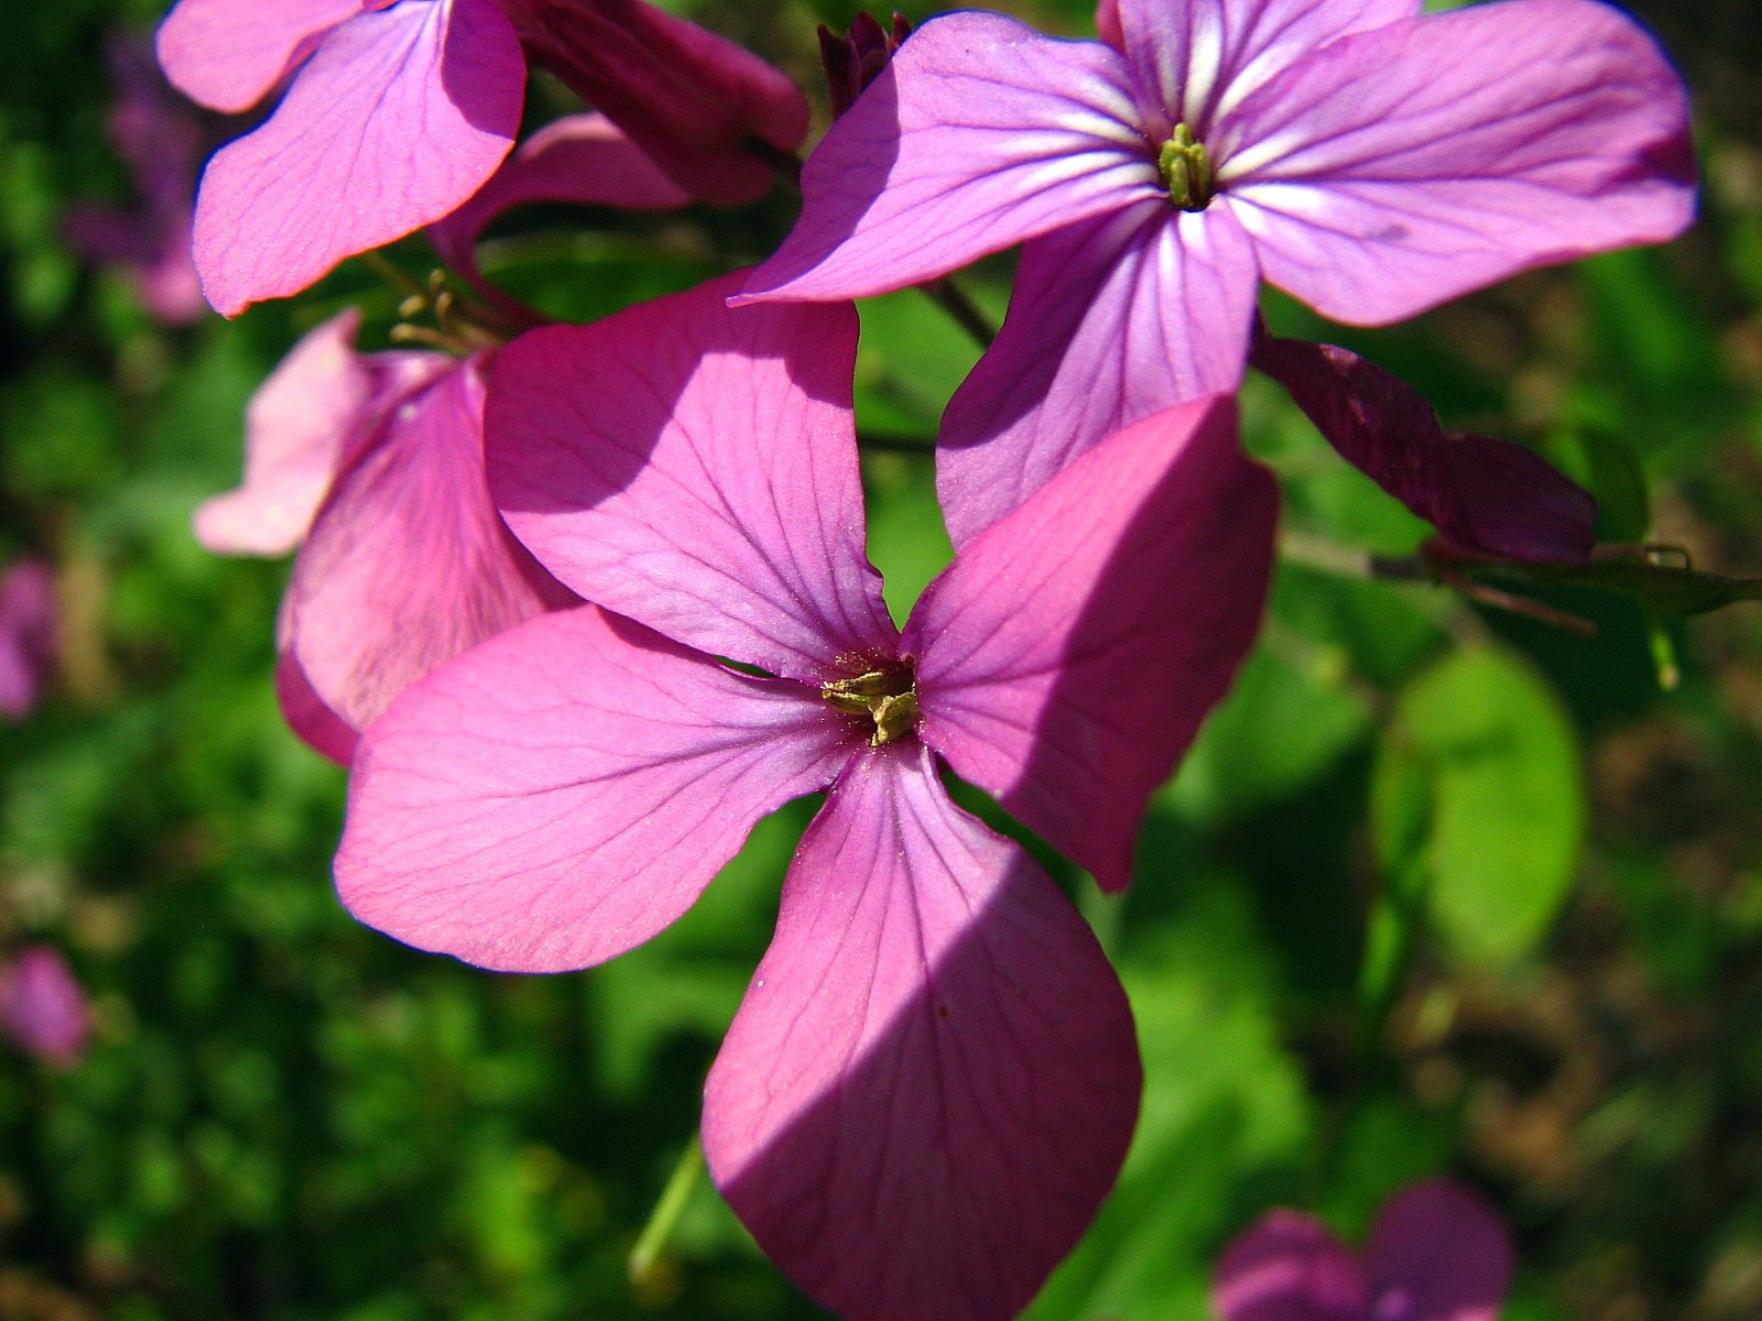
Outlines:
{"label": "blurred dark green foliage background behind the pink flowers", "polygon": [[[855,5],[671,7],[825,113],[814,23]],[[1092,32],[1075,0],[1015,12]],[[1448,426],[1540,449],[1598,495],[1607,541],[1762,576],[1762,4],[1635,12],[1695,95],[1686,238],[1387,331],[1263,306],[1403,373]],[[287,565],[215,558],[189,523],[236,484],[245,402],[289,343],[354,303],[384,347],[400,292],[349,262],[236,322],[190,301],[180,208],[236,125],[155,100],[159,18],[7,14],[0,572],[46,569],[58,618],[41,699],[0,706],[0,963],[16,1007],[21,969],[65,960],[88,1032],[72,1006],[60,1037],[14,1023],[0,1053],[0,1316],[818,1316],[689,1164],[812,803],[585,974],[478,972],[337,905],[344,773],[271,690]],[[569,109],[546,81],[529,100],[534,123]],[[779,187],[738,213],[523,211],[485,266],[589,319],[763,257],[793,206]],[[419,238],[388,255],[433,264]],[[1008,278],[1008,259],[971,277],[994,317]],[[904,613],[948,558],[927,447],[976,351],[913,294],[863,328],[872,555]],[[1147,1092],[1119,1189],[1031,1316],[1203,1317],[1219,1245],[1265,1208],[1355,1235],[1447,1171],[1512,1221],[1510,1317],[1753,1319],[1762,608],[1655,620],[1549,590],[1584,639],[1374,579],[1364,551],[1411,555],[1427,528],[1265,380],[1244,409],[1286,490],[1276,601],[1129,897],[1059,872],[1131,992]]]}

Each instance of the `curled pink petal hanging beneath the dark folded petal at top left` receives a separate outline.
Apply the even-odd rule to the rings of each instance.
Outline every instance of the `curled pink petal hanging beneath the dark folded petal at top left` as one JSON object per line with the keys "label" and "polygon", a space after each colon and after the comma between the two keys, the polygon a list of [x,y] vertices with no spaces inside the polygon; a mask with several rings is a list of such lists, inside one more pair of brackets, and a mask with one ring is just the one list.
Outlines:
{"label": "curled pink petal hanging beneath the dark folded petal at top left", "polygon": [[440,261],[474,289],[527,315],[478,269],[478,238],[492,220],[534,203],[659,211],[689,201],[691,194],[663,174],[611,120],[569,114],[523,141],[470,201],[428,227],[428,240]]}

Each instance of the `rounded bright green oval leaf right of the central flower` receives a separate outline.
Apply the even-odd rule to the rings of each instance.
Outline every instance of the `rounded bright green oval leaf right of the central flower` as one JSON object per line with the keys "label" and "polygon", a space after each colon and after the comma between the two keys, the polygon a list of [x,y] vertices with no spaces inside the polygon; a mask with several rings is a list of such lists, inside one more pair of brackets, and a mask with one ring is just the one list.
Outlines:
{"label": "rounded bright green oval leaf right of the central flower", "polygon": [[1401,692],[1371,835],[1390,895],[1424,888],[1457,956],[1508,963],[1542,939],[1572,882],[1584,786],[1566,713],[1526,662],[1457,652]]}

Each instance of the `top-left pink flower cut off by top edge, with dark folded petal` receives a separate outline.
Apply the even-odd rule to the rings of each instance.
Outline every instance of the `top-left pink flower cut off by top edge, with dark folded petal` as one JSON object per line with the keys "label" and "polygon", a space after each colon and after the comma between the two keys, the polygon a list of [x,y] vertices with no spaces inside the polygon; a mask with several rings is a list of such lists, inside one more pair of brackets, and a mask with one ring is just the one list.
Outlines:
{"label": "top-left pink flower cut off by top edge, with dark folded petal", "polygon": [[[807,129],[781,72],[638,0],[180,0],[159,58],[189,97],[241,111],[291,76],[203,174],[196,266],[213,306],[300,292],[470,197],[520,129],[522,39],[578,56],[566,79],[592,63],[578,90],[694,196],[756,196],[770,169],[740,151],[745,136],[788,150]],[[675,79],[689,90],[666,92]]]}

